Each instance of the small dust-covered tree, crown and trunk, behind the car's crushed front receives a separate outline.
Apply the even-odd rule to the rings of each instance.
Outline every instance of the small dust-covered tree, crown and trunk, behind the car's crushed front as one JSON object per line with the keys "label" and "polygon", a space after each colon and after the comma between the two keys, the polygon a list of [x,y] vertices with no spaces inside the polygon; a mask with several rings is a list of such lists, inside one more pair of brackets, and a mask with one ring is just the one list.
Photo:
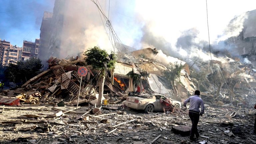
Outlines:
{"label": "small dust-covered tree, crown and trunk, behind the car's crushed front", "polygon": [[183,65],[178,62],[175,62],[174,65],[171,65],[169,69],[164,71],[164,77],[166,77],[167,81],[171,83],[174,93],[174,98],[177,98],[178,90],[176,88],[175,81],[180,82],[180,72],[183,68]]}

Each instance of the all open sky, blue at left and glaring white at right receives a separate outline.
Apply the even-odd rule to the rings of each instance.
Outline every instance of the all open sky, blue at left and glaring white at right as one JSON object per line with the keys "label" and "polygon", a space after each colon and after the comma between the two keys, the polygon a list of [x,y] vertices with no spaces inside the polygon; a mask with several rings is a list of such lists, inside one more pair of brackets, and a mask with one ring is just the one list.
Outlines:
{"label": "all open sky, blue at left and glaring white at right", "polygon": [[[52,12],[54,7],[54,0],[0,0],[0,3],[0,38],[18,46],[22,46],[24,38],[32,41],[39,38],[43,12]],[[231,19],[256,9],[255,0],[208,0],[207,4],[211,43],[223,34]],[[177,38],[189,29],[195,29],[199,39],[208,41],[205,0],[102,0],[101,5],[126,45],[143,47],[140,39],[145,25],[173,47]]]}

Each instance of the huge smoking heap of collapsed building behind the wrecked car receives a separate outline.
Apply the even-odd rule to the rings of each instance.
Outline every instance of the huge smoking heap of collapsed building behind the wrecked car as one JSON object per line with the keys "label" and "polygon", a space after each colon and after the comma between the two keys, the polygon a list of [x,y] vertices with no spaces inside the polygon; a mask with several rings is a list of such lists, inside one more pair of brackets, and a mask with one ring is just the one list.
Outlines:
{"label": "huge smoking heap of collapsed building behind the wrecked car", "polygon": [[[126,53],[117,60],[113,76],[108,74],[104,83],[103,99],[108,101],[108,105],[117,109],[123,100],[135,94],[137,90],[135,84],[142,86],[140,93],[160,93],[178,101],[184,101],[193,95],[196,89],[199,89],[202,92],[202,99],[213,104],[224,105],[226,103],[243,106],[254,102],[256,73],[254,73],[255,67],[252,64],[242,64],[236,61],[237,58],[217,58],[214,55],[215,60],[194,62],[193,65],[204,72],[197,76],[195,73],[198,72],[191,68],[192,66],[189,67],[186,62],[180,61],[183,69],[176,87],[178,95],[174,96],[173,88],[163,74],[163,71],[168,69],[168,65],[155,59],[157,54],[156,49],[145,48]],[[67,105],[76,106],[80,83],[77,70],[81,66],[86,66],[88,74],[82,79],[79,104],[94,105],[97,103],[98,71],[86,65],[83,58],[79,56],[70,59],[51,57],[47,63],[48,70],[28,80],[21,87],[4,90],[4,94],[12,98],[15,96],[20,99],[20,102],[25,103],[44,102],[56,105],[64,101]],[[169,64],[174,63],[175,61]],[[141,83],[133,82],[128,73],[140,74],[141,70],[149,75],[142,78]],[[117,103],[119,105],[116,105]]]}

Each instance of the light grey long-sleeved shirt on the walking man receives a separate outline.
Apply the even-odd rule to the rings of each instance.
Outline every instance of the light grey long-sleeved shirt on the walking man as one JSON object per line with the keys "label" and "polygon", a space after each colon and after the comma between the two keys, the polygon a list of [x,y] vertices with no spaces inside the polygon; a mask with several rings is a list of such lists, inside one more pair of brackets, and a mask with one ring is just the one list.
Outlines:
{"label": "light grey long-sleeved shirt on the walking man", "polygon": [[199,108],[201,106],[201,113],[204,114],[204,102],[198,95],[189,97],[184,101],[183,105],[186,106],[187,103],[190,103],[189,110],[193,110],[197,112],[200,112]]}

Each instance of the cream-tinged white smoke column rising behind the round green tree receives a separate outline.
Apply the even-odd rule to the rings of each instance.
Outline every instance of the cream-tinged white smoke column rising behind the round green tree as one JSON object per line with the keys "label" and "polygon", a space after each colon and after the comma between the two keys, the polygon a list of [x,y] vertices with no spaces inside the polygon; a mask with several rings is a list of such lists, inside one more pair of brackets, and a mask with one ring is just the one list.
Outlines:
{"label": "cream-tinged white smoke column rising behind the round green tree", "polygon": [[[97,45],[108,52],[114,50],[112,44],[115,41],[112,39],[110,42],[111,38],[109,38],[112,32],[106,26],[106,20],[92,1],[58,0],[58,2],[59,7],[55,7],[54,15],[58,19],[63,19],[63,27],[57,35],[61,41],[60,58],[76,55]],[[105,14],[108,12],[105,0],[97,0],[97,4]],[[122,5],[125,4],[126,2],[111,1],[111,7],[117,7],[117,5],[123,7]],[[110,14],[110,16],[115,19],[115,15]]]}

